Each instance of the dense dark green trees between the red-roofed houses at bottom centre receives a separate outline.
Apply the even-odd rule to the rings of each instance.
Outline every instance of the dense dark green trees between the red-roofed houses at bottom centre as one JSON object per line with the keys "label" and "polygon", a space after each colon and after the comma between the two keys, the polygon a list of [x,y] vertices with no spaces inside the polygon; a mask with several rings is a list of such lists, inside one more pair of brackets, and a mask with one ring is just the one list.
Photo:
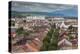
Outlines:
{"label": "dense dark green trees between the red-roofed houses at bottom centre", "polygon": [[51,28],[47,33],[47,36],[43,40],[43,46],[41,47],[41,51],[48,50],[57,50],[58,49],[58,36],[59,29]]}

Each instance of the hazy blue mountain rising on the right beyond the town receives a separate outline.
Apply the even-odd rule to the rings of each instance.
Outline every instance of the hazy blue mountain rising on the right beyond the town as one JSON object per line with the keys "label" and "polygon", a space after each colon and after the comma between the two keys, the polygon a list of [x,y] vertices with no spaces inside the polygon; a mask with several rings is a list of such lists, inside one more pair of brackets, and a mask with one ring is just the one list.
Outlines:
{"label": "hazy blue mountain rising on the right beyond the town", "polygon": [[78,11],[75,9],[60,10],[60,11],[55,11],[53,13],[61,14],[62,16],[65,16],[65,17],[78,17]]}

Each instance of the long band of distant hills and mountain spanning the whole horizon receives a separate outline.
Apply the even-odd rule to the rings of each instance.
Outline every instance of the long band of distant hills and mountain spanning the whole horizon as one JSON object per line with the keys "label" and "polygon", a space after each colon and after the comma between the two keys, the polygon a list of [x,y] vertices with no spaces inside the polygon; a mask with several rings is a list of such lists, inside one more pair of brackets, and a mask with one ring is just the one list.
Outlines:
{"label": "long band of distant hills and mountain spanning the whole horizon", "polygon": [[[17,12],[17,11],[12,11],[11,12],[11,15],[12,15],[12,17],[14,17],[14,16],[28,16],[28,15],[44,15],[44,16],[60,16],[60,17],[77,17],[76,15],[76,13],[75,12],[73,12],[74,13],[74,15],[73,15],[73,13],[71,13],[71,12],[69,12],[69,13],[67,13],[67,12],[69,12],[69,11],[56,11],[56,12]],[[75,15],[76,14],[76,15]]]}

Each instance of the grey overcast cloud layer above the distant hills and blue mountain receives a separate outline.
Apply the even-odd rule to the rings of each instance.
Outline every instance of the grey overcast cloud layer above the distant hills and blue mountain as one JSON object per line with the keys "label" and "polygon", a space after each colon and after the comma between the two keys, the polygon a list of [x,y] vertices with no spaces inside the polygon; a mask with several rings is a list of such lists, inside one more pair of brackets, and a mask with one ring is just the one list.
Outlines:
{"label": "grey overcast cloud layer above the distant hills and blue mountain", "polygon": [[56,12],[69,9],[76,11],[77,6],[65,5],[65,4],[33,3],[33,2],[12,2],[12,11],[20,11],[20,12]]}

